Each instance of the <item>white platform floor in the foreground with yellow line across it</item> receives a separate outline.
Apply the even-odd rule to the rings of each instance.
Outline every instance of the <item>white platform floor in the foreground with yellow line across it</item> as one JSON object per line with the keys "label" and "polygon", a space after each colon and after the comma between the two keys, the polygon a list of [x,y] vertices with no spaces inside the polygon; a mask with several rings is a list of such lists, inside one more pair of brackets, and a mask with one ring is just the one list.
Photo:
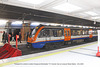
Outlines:
{"label": "white platform floor in the foreground with yellow line across it", "polygon": [[100,67],[97,42],[0,60],[0,67]]}

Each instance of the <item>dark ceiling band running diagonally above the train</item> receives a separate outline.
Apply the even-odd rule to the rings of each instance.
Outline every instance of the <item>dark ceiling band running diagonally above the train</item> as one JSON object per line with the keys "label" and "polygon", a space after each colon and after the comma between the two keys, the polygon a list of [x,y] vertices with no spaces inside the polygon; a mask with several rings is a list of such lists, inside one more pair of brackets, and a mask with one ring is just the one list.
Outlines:
{"label": "dark ceiling band running diagonally above the train", "polygon": [[[5,3],[4,2],[0,3],[0,18],[17,19],[17,20],[22,20],[23,18],[25,18],[25,20],[31,20],[31,21],[42,21],[42,22],[61,23],[61,24],[64,23],[64,24],[95,26],[95,27],[100,26],[99,21],[96,21],[96,24],[94,24],[94,21],[90,19],[79,18],[76,16],[65,15],[59,12],[56,13],[53,11],[47,11],[43,9],[40,10],[40,9],[29,8],[29,7],[27,8],[27,7],[23,7],[23,5],[22,6],[14,5],[9,2],[6,3],[6,1],[7,0],[4,1]],[[58,2],[60,1],[61,0],[59,0]],[[57,2],[53,2],[53,3],[57,3]],[[48,4],[48,6],[49,5],[50,3]],[[72,13],[77,14],[77,12],[72,12]]]}

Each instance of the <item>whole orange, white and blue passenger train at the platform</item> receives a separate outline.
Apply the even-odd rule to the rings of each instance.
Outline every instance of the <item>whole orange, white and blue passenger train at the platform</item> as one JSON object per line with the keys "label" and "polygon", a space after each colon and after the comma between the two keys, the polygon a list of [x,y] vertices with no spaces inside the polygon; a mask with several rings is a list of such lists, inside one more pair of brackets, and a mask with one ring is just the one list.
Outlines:
{"label": "whole orange, white and blue passenger train at the platform", "polygon": [[29,33],[28,48],[54,48],[83,41],[97,40],[97,29],[39,25]]}

